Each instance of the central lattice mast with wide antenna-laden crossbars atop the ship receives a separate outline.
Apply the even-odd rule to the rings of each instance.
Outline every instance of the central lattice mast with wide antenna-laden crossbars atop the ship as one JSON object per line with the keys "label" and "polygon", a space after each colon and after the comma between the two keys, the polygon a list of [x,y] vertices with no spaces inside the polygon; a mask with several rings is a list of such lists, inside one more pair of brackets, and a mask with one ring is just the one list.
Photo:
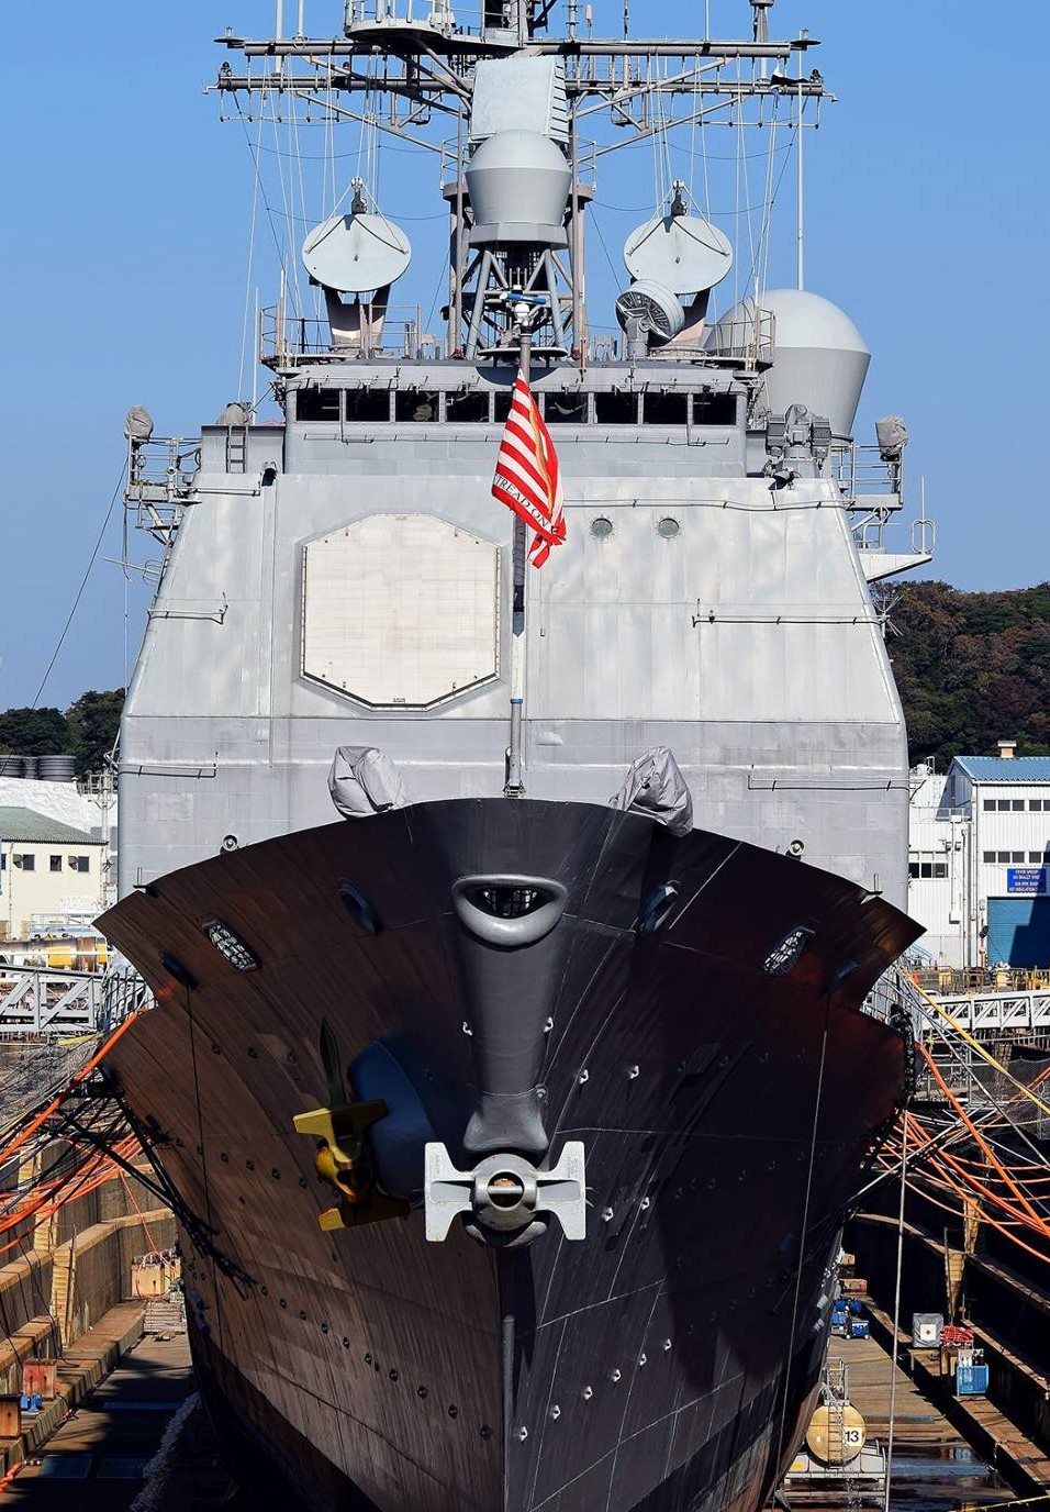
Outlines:
{"label": "central lattice mast with wide antenna-laden crossbars atop the ship", "polygon": [[[408,0],[351,0],[338,36],[221,36],[219,44],[243,64],[234,68],[224,62],[215,88],[222,98],[236,98],[243,122],[260,115],[279,121],[290,104],[295,109],[302,101],[313,119],[363,122],[370,133],[393,135],[438,154],[450,231],[449,354],[468,361],[517,360],[511,301],[500,305],[494,298],[503,281],[508,293],[521,289],[545,308],[532,328],[533,361],[582,366],[588,360],[586,212],[597,165],[619,147],[666,141],[681,127],[764,125],[777,101],[786,101],[799,136],[801,278],[802,110],[808,100],[834,97],[816,71],[804,77],[802,64],[814,41],[807,33],[772,39],[774,0],[749,5],[752,36],[716,41],[579,35],[576,6],[568,8],[570,35],[553,36],[545,30],[553,0],[483,0],[480,26],[473,30],[458,26],[444,3],[434,3],[426,20],[417,20]],[[564,135],[557,139],[570,168],[565,237],[535,257],[518,259],[497,243],[479,248],[465,184],[477,147],[465,130],[477,65],[517,56],[550,59],[556,68],[564,100]],[[789,77],[792,57],[799,67],[798,76],[792,70]],[[598,136],[604,121],[618,127],[616,139]],[[443,139],[428,132],[429,122],[447,122]]]}

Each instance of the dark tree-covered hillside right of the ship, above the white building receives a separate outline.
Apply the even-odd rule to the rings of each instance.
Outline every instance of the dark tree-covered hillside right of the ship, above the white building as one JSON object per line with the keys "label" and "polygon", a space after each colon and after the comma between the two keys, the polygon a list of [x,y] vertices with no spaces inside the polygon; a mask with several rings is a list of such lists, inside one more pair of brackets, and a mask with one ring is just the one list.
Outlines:
{"label": "dark tree-covered hillside right of the ship, above the white building", "polygon": [[916,582],[893,602],[888,647],[908,721],[911,761],[1050,754],[1050,582],[961,593]]}

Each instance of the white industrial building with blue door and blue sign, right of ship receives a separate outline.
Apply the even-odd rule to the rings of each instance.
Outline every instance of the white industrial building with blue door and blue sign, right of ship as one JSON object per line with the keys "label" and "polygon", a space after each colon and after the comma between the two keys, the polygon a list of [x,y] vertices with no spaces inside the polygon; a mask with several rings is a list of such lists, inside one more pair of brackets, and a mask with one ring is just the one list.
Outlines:
{"label": "white industrial building with blue door and blue sign, right of ship", "polygon": [[1050,968],[1050,756],[999,751],[913,771],[908,912],[941,968]]}

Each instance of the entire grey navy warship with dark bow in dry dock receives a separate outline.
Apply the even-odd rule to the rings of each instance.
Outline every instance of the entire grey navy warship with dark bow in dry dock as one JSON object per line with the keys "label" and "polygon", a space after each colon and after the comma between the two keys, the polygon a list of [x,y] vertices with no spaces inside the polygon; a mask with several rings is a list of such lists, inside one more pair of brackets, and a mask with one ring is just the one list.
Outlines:
{"label": "entire grey navy warship with dark bow in dry dock", "polygon": [[[263,124],[357,124],[437,154],[449,227],[438,339],[355,172],[260,311],[279,419],[125,426],[162,561],[101,927],[156,1007],[109,1064],[202,1394],[313,1507],[755,1512],[819,1391],[908,1075],[872,993],[919,933],[870,584],[928,543],[890,549],[906,431],[854,442],[869,351],[804,287],[828,89],[771,6],[603,39],[574,0],[351,0],[311,36],[278,0],[219,38],[257,171]],[[668,144],[719,125],[772,156],[715,314],[740,248]],[[592,311],[624,144],[666,171]],[[539,552],[493,485],[518,402]]]}

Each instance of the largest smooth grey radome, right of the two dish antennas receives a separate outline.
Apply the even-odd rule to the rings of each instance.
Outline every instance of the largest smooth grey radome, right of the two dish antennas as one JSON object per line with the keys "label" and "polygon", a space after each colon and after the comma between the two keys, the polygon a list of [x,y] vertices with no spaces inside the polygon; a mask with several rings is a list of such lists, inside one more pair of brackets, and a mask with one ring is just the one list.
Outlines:
{"label": "largest smooth grey radome, right of the two dish antennas", "polygon": [[[760,308],[774,316],[774,364],[764,402],[774,414],[804,404],[831,422],[832,435],[852,432],[872,354],[845,310],[802,289],[767,289]],[[754,330],[754,299],[728,310],[707,333],[706,346],[731,351]],[[763,333],[764,336],[764,333]]]}

